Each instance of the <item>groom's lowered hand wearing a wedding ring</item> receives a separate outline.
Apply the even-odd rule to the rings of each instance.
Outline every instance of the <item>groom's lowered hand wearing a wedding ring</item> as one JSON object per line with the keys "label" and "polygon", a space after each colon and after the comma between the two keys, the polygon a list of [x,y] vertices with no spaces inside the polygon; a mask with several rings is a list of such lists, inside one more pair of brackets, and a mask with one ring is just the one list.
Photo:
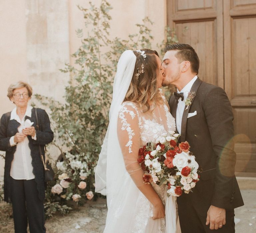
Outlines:
{"label": "groom's lowered hand wearing a wedding ring", "polygon": [[206,225],[209,225],[211,230],[217,230],[226,224],[226,210],[211,205],[207,211]]}

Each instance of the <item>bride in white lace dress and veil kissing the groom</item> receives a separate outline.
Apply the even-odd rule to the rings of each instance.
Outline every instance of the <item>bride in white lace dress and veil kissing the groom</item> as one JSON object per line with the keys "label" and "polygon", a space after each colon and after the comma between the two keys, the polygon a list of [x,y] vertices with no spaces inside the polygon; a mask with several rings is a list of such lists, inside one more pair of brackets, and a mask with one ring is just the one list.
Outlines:
{"label": "bride in white lace dress and veil kissing the groom", "polygon": [[165,186],[143,183],[140,147],[168,131],[175,119],[161,90],[164,69],[158,53],[125,51],[114,79],[109,126],[95,171],[95,191],[107,195],[104,233],[175,233],[174,197]]}

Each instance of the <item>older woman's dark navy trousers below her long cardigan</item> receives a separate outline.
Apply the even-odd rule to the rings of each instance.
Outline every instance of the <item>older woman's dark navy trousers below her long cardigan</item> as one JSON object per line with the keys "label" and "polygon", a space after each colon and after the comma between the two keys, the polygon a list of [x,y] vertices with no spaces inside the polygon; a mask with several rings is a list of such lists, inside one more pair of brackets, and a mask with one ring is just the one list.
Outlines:
{"label": "older woman's dark navy trousers below her long cardigan", "polygon": [[38,198],[35,179],[11,178],[11,200],[15,233],[45,233],[44,203]]}

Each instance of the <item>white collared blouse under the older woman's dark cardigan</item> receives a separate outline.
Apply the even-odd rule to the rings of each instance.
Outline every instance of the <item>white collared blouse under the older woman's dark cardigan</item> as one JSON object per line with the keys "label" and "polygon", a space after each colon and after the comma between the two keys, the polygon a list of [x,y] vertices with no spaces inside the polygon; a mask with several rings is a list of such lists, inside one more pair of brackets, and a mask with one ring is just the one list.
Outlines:
{"label": "white collared blouse under the older woman's dark cardigan", "polygon": [[[25,122],[25,116],[31,117],[32,109],[33,107],[31,106],[27,107],[26,113],[22,118],[22,120],[20,120],[20,117],[17,115],[17,108],[15,108],[11,112],[10,120],[14,119],[20,123],[20,126],[18,127],[18,132],[22,132],[23,128],[30,126],[28,125],[28,122]],[[32,137],[32,139],[36,140],[36,135],[35,137]],[[31,151],[28,146],[28,143],[29,143],[29,140],[27,137],[25,137],[25,139],[19,143],[14,142],[14,136],[10,138],[10,145],[11,146],[17,145],[16,151],[13,156],[11,171],[10,171],[10,176],[13,179],[31,180],[35,178],[35,175],[33,174]]]}

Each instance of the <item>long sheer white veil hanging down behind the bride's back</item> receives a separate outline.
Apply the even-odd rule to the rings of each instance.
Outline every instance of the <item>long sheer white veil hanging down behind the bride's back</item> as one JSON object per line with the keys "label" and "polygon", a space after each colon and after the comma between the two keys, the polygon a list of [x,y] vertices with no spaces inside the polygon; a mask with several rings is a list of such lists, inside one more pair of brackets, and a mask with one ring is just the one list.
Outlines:
{"label": "long sheer white veil hanging down behind the bride's back", "polygon": [[118,61],[109,112],[109,125],[95,170],[95,192],[108,195],[108,202],[111,201],[112,194],[114,195],[120,188],[122,178],[126,173],[117,137],[117,119],[132,80],[135,62],[136,56],[132,50],[126,50]]}

